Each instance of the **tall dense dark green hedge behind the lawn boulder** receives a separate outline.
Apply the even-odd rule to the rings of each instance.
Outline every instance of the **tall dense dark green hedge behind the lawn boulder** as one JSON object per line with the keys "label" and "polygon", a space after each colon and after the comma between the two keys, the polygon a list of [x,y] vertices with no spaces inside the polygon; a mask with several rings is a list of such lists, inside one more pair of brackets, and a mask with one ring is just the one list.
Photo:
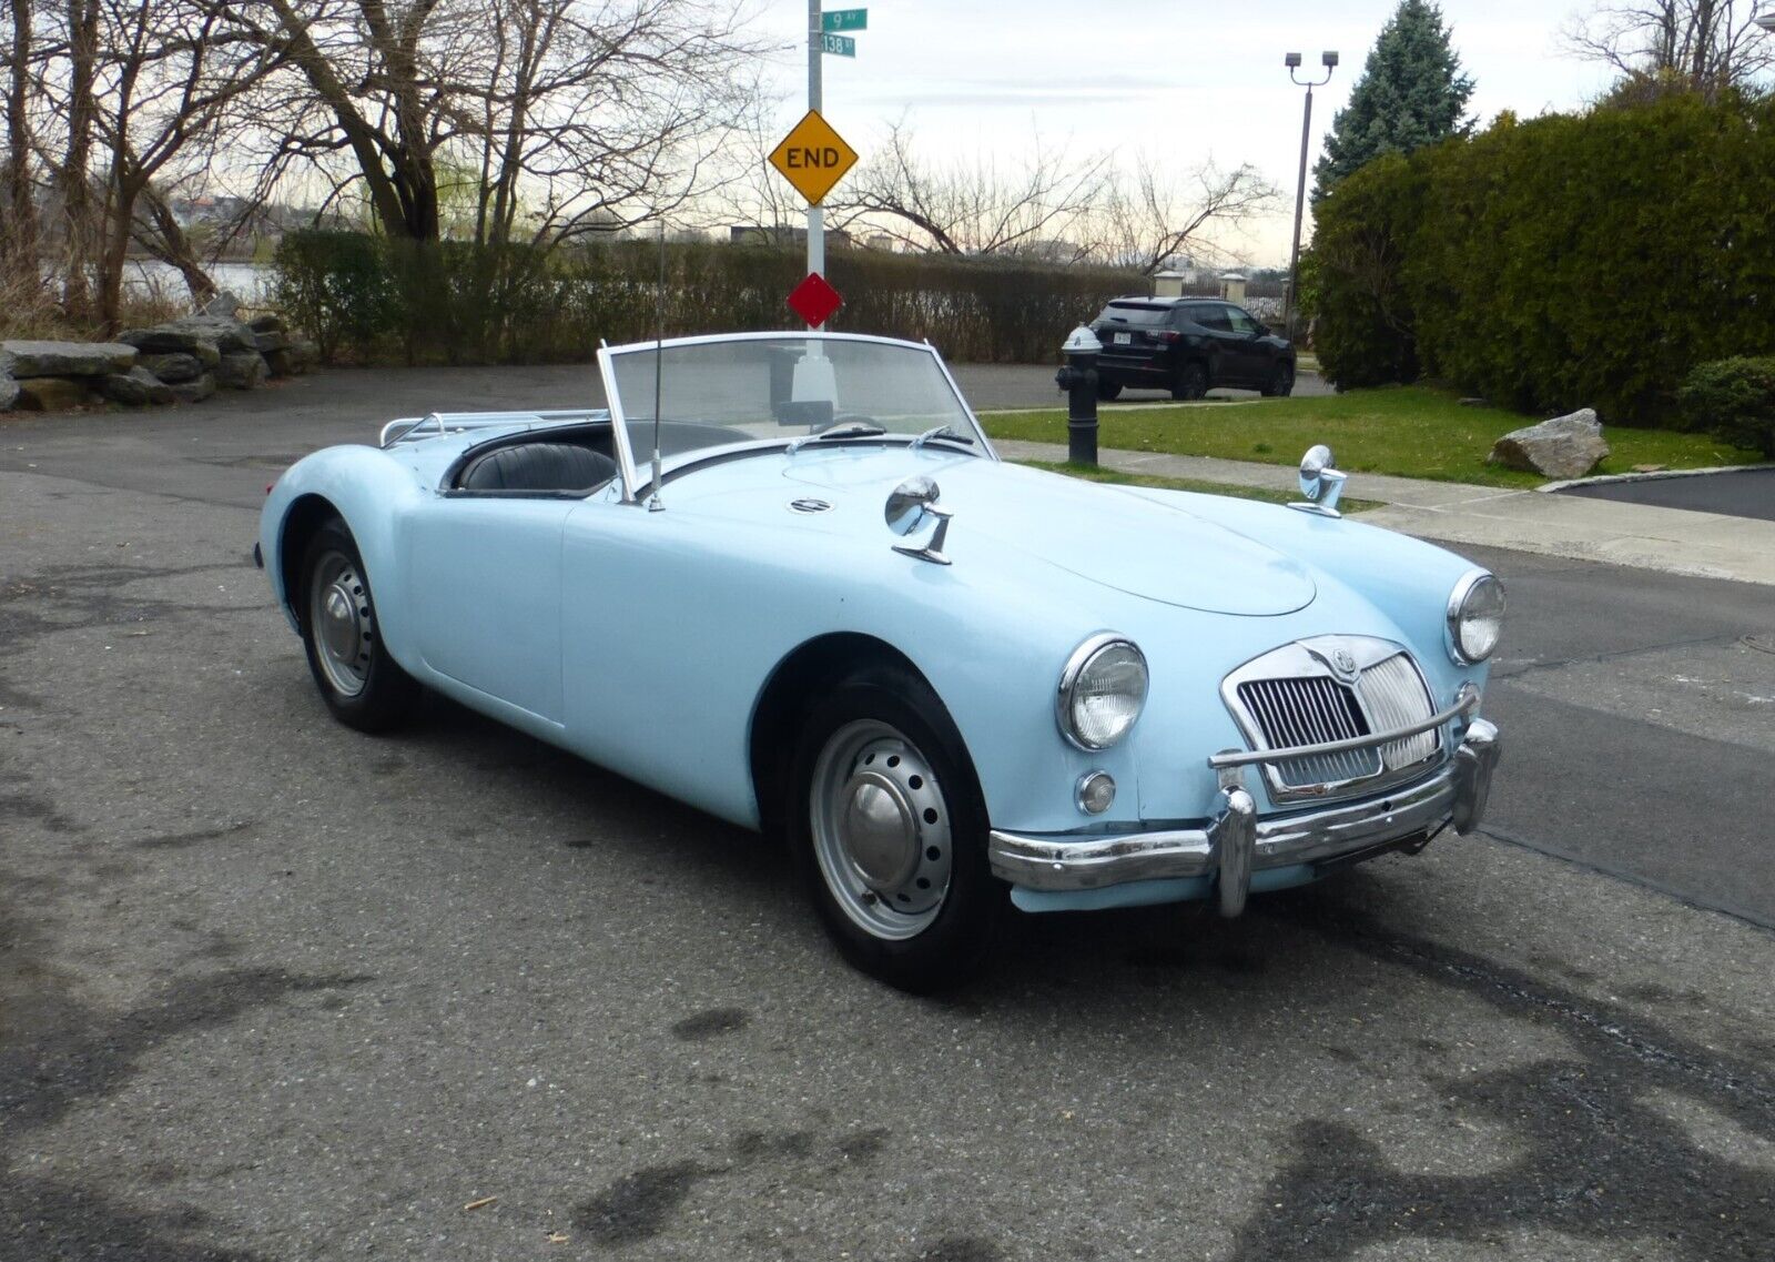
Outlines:
{"label": "tall dense dark green hedge behind the lawn boulder", "polygon": [[1775,98],[1503,115],[1321,202],[1321,364],[1658,422],[1693,366],[1775,350],[1771,206]]}

